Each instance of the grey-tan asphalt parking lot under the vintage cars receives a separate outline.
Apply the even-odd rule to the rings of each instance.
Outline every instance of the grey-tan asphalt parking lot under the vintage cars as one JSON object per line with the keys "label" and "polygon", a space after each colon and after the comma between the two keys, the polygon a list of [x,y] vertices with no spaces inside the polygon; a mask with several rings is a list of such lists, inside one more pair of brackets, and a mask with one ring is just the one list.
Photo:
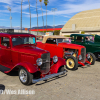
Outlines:
{"label": "grey-tan asphalt parking lot under the vintage cars", "polygon": [[0,100],[100,100],[100,62],[30,86],[22,85],[15,72],[9,75],[0,72],[0,88],[35,91],[33,95],[1,94]]}

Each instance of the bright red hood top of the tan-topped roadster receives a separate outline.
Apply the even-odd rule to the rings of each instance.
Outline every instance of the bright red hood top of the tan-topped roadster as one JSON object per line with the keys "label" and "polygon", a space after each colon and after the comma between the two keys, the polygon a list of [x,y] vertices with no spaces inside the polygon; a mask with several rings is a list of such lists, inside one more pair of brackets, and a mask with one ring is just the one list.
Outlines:
{"label": "bright red hood top of the tan-topped roadster", "polygon": [[84,46],[82,45],[77,45],[77,44],[72,44],[72,43],[59,43],[58,46],[60,47],[64,47],[64,48],[72,48],[72,49],[80,49],[80,48],[85,48]]}

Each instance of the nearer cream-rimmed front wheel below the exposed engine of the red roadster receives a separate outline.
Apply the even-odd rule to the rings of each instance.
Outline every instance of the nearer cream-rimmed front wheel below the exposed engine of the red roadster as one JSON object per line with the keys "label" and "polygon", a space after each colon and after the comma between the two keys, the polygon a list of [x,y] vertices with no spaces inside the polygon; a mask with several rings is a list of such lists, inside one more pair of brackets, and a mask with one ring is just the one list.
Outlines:
{"label": "nearer cream-rimmed front wheel below the exposed engine of the red roadster", "polygon": [[73,56],[67,57],[66,68],[69,70],[76,70],[78,68],[78,60]]}

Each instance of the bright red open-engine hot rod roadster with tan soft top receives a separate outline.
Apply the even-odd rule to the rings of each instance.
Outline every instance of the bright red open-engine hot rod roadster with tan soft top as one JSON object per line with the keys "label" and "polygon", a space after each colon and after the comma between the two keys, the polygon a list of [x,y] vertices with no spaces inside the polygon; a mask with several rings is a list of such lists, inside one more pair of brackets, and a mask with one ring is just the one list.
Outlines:
{"label": "bright red open-engine hot rod roadster with tan soft top", "polygon": [[[81,45],[67,43],[69,37],[63,36],[45,36],[42,42],[37,42],[37,47],[50,52],[51,57],[57,55],[66,61],[66,67],[69,70],[75,70],[78,64],[94,64],[95,56],[90,57],[86,54],[86,48]],[[93,55],[93,54],[92,54]]]}

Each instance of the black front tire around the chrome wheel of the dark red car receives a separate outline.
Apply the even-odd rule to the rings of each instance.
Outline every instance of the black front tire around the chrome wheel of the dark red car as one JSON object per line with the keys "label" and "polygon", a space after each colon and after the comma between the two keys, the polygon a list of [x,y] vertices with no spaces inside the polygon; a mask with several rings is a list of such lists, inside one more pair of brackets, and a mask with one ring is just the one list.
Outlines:
{"label": "black front tire around the chrome wheel of the dark red car", "polygon": [[[27,75],[25,82],[22,81],[23,79],[21,79],[21,71],[24,71],[25,74]],[[32,84],[33,75],[31,73],[29,73],[24,67],[20,67],[18,74],[19,74],[19,80],[21,81],[22,84],[24,84],[24,85]]]}

